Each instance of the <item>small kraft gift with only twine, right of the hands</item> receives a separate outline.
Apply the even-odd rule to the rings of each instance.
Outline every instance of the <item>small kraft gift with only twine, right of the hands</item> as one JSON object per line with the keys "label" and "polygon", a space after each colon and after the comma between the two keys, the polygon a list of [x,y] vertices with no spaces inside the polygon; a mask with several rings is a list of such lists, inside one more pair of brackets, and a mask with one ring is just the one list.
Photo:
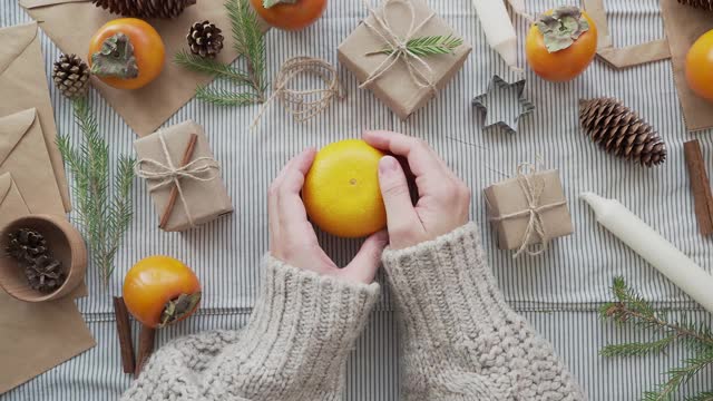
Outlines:
{"label": "small kraft gift with only twine, right of the hands", "polygon": [[537,256],[554,238],[574,233],[559,172],[521,164],[517,177],[485,189],[488,219],[501,250]]}

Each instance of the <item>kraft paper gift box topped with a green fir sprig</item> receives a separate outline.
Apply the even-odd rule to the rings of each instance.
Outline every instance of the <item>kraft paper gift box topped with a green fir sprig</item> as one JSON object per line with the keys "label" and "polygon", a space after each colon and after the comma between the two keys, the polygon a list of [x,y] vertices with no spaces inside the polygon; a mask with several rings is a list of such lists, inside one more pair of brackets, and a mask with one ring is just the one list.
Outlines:
{"label": "kraft paper gift box topped with a green fir sprig", "polygon": [[453,78],[471,51],[422,0],[385,0],[339,46],[339,60],[401,119]]}

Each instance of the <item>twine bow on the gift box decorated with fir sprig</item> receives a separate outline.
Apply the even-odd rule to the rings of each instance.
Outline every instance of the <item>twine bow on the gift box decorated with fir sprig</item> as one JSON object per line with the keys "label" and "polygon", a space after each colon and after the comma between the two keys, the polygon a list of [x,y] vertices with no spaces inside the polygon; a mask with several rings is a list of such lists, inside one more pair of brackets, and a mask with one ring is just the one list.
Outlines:
{"label": "twine bow on the gift box decorated with fir sprig", "polygon": [[[399,37],[387,18],[387,8],[391,3],[403,3],[407,6],[409,11],[409,30],[407,31],[403,38]],[[369,6],[368,0],[364,0],[364,4],[367,9],[369,9],[369,13],[373,17],[377,23],[371,23],[369,19],[364,20],[364,26],[367,26],[371,31],[377,33],[383,41],[387,48],[390,50],[388,57],[377,67],[377,69],[371,72],[371,75],[367,78],[367,80],[360,85],[360,88],[364,88],[375,80],[381,78],[387,71],[389,71],[393,66],[399,62],[399,60],[403,60],[407,69],[409,70],[409,76],[413,84],[416,84],[420,89],[428,88],[434,95],[438,92],[436,88],[436,84],[433,82],[433,69],[421,57],[409,51],[407,43],[409,40],[413,38],[413,36],[420,31],[426,23],[428,23],[433,16],[436,14],[433,11],[429,13],[427,18],[421,21],[418,26],[416,26],[416,10],[413,9],[413,4],[410,0],[387,0],[383,6],[383,17],[379,16],[379,13]],[[381,49],[383,50],[383,49]],[[378,51],[382,52],[382,51]],[[368,53],[369,56],[370,53]]]}

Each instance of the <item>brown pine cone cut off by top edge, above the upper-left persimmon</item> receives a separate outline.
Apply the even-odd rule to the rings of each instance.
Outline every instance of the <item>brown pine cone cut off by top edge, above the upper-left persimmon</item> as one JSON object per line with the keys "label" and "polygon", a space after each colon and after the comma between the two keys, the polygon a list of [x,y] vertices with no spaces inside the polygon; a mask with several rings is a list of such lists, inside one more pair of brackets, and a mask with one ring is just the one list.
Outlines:
{"label": "brown pine cone cut off by top edge, above the upper-left persimmon", "polygon": [[137,18],[176,18],[196,0],[91,0],[109,12]]}

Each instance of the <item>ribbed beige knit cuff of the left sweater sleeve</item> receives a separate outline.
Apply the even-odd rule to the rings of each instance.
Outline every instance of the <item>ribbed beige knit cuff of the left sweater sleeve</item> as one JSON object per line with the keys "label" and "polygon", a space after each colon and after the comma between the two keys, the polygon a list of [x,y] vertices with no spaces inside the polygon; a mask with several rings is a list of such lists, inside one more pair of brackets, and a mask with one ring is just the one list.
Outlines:
{"label": "ribbed beige knit cuff of the left sweater sleeve", "polygon": [[[271,255],[262,293],[240,342],[223,362],[241,397],[339,393],[346,358],[379,300],[379,284],[353,284],[293,267]],[[267,390],[268,389],[268,390]],[[320,397],[322,397],[320,395]]]}

